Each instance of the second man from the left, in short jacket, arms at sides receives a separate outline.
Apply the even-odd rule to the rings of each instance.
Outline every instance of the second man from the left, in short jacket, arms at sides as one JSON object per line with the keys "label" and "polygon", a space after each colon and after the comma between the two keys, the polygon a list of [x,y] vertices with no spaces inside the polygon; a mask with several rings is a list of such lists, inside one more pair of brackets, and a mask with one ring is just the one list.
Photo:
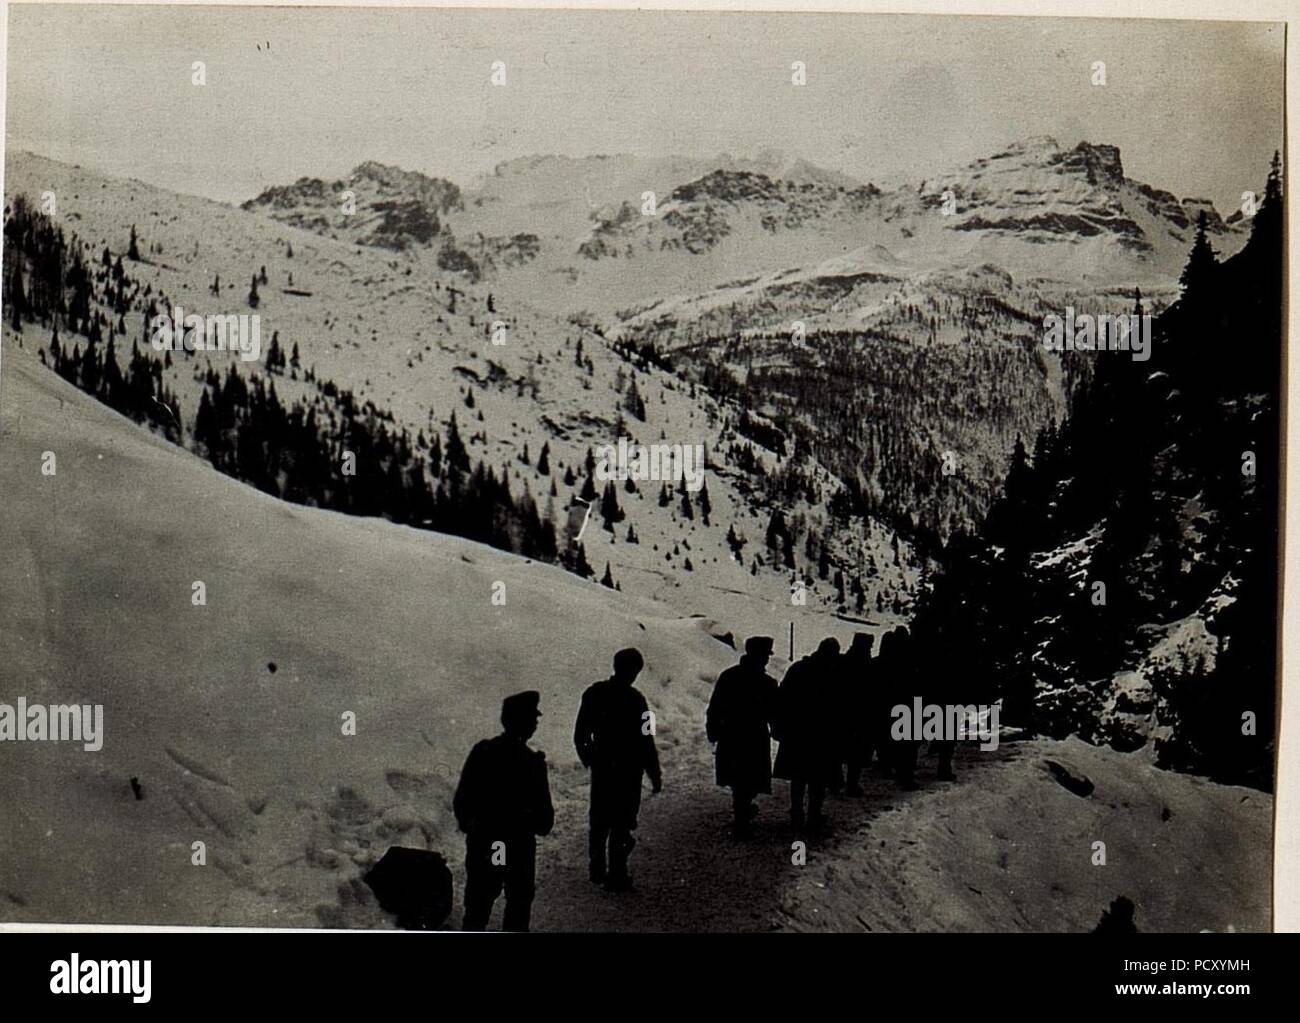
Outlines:
{"label": "second man from the left, in short jacket, arms at sides", "polygon": [[632,685],[644,666],[640,650],[615,654],[614,675],[582,693],[573,728],[577,757],[592,770],[592,880],[612,892],[632,888],[628,855],[637,844],[632,832],[641,810],[642,775],[650,776],[654,792],[663,789],[654,716]]}

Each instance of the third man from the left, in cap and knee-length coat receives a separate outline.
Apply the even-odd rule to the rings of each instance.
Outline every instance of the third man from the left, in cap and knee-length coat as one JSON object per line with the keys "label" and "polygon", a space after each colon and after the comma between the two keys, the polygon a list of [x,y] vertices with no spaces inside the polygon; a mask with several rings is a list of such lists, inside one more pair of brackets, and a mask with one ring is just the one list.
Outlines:
{"label": "third man from the left, in cap and knee-length coat", "polygon": [[705,734],[714,750],[718,784],[732,790],[736,833],[749,832],[758,816],[754,797],[772,790],[771,725],[776,716],[776,680],[766,671],[772,656],[770,636],[745,641],[740,664],[718,676],[705,715]]}

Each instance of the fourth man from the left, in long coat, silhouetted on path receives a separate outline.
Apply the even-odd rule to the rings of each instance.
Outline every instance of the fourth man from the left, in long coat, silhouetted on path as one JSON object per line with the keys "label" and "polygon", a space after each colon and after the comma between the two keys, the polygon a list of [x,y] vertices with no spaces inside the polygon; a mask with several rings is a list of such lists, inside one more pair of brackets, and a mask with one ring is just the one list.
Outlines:
{"label": "fourth man from the left, in long coat, silhouetted on path", "polygon": [[[790,823],[822,825],[822,802],[838,766],[835,747],[840,642],[826,638],[816,651],[785,672],[777,692],[776,766],[772,773],[790,781]],[[807,809],[803,797],[807,794]]]}

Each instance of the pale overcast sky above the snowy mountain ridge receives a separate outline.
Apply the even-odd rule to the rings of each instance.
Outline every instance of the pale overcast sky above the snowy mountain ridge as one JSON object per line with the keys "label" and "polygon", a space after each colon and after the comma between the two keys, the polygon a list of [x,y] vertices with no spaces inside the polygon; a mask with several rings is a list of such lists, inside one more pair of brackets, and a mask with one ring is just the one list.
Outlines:
{"label": "pale overcast sky above the snowy mountain ridge", "polygon": [[1282,146],[1282,45],[1230,22],[10,6],[6,143],[242,201],[363,160],[469,185],[528,153],[777,148],[919,181],[1045,134],[1227,212]]}

